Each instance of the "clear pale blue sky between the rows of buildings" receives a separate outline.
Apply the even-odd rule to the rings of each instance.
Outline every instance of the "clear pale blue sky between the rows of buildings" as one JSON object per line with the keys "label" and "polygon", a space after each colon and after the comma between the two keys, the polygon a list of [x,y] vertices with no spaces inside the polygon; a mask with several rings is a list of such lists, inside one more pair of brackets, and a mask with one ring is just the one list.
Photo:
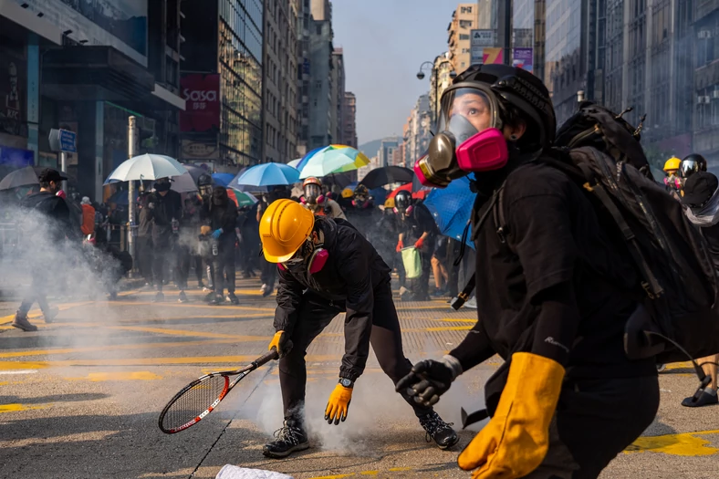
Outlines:
{"label": "clear pale blue sky between the rows of buildings", "polygon": [[447,51],[458,0],[334,0],[334,46],[344,48],[346,89],[357,96],[359,144],[401,135],[417,98],[430,89],[424,61]]}

